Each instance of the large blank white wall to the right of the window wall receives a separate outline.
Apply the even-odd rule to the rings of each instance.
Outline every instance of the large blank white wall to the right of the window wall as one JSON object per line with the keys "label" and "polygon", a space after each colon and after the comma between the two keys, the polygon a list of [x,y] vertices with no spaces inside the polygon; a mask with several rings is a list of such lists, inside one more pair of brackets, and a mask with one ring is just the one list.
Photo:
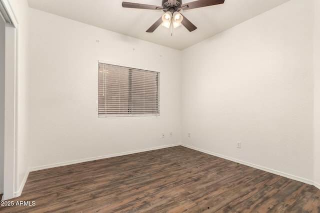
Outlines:
{"label": "large blank white wall to the right of the window wall", "polygon": [[182,143],[312,183],[312,10],[291,0],[182,51]]}

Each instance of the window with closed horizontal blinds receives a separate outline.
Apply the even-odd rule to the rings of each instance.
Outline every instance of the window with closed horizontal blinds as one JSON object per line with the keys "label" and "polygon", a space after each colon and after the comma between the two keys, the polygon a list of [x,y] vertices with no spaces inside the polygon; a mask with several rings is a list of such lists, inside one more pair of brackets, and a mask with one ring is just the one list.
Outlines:
{"label": "window with closed horizontal blinds", "polygon": [[98,116],[158,116],[159,74],[99,62]]}

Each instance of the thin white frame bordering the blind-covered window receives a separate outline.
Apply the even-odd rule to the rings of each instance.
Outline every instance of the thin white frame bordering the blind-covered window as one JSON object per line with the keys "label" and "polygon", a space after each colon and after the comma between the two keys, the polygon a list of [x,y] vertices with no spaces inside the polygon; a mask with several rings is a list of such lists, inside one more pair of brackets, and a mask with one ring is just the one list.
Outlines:
{"label": "thin white frame bordering the blind-covered window", "polygon": [[[114,114],[99,114],[99,64],[107,64],[111,66],[119,66],[123,68],[127,68],[128,72],[129,70],[142,70],[142,71],[149,71],[149,72],[155,72],[157,73],[157,113],[114,113]],[[98,60],[97,64],[97,70],[98,70],[98,76],[97,76],[97,88],[98,88],[98,94],[97,94],[97,114],[98,118],[107,118],[107,117],[158,117],[160,116],[160,72],[153,70],[153,69],[146,69],[146,68],[141,68],[141,67],[134,67],[134,66],[129,66],[125,64],[120,64],[116,62],[111,62],[111,61],[104,61],[104,60]],[[130,88],[130,85],[129,85]],[[132,88],[131,88],[132,89]],[[130,101],[129,101],[130,102]]]}

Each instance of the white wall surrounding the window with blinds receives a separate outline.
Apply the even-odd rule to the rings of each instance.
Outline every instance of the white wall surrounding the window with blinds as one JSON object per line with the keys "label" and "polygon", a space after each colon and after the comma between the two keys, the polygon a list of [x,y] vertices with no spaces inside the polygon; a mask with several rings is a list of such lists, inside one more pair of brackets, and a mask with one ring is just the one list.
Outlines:
{"label": "white wall surrounding the window with blinds", "polygon": [[[35,9],[29,42],[32,170],[180,143],[179,51]],[[98,60],[159,71],[160,116],[98,118]]]}

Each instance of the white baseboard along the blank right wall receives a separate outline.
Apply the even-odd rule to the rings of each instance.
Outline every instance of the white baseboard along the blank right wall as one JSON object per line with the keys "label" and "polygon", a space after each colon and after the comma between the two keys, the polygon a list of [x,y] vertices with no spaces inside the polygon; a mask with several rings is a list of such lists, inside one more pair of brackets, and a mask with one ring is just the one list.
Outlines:
{"label": "white baseboard along the blank right wall", "polygon": [[[224,156],[224,155],[220,155],[220,154],[217,154],[217,153],[214,153],[214,152],[210,152],[210,151],[206,151],[206,150],[199,149],[199,148],[196,148],[196,147],[192,147],[192,146],[189,146],[189,145],[186,145],[186,144],[181,144],[181,146],[184,146],[186,148],[190,148],[190,149],[193,149],[193,150],[196,150],[196,151],[199,151],[199,152],[203,152],[203,153],[206,153],[206,154],[209,154],[209,155],[213,155],[213,156],[216,156],[216,157],[219,157],[219,158],[223,158],[223,159],[226,159],[226,160],[229,160],[229,161],[240,163],[240,164],[243,164],[243,165],[246,165],[246,166],[249,166],[249,167],[253,167],[255,169],[259,169],[259,170],[262,170],[262,171],[265,171],[265,172],[269,172],[269,173],[272,173],[272,174],[275,174],[275,175],[279,175],[279,176],[282,176],[282,177],[285,177],[285,178],[289,178],[289,179],[292,179],[292,180],[295,180],[295,181],[299,181],[299,182],[302,182],[302,183],[305,183],[305,184],[309,184],[309,185],[315,186],[314,185],[315,183],[313,181],[305,179],[305,178],[297,177],[297,176],[290,175],[290,174],[287,174],[287,173],[283,173],[283,172],[280,172],[280,171],[277,171],[277,170],[273,170],[273,169],[270,169],[270,168],[266,168],[266,167],[262,167],[262,166],[259,166],[259,165],[255,165],[255,164],[252,164],[252,163],[249,163],[249,162],[246,162],[246,161],[241,161],[241,160],[238,160],[238,159],[235,159],[235,158],[230,158],[230,157],[227,157],[227,156]],[[320,185],[318,185],[317,188],[319,188],[319,186]]]}

